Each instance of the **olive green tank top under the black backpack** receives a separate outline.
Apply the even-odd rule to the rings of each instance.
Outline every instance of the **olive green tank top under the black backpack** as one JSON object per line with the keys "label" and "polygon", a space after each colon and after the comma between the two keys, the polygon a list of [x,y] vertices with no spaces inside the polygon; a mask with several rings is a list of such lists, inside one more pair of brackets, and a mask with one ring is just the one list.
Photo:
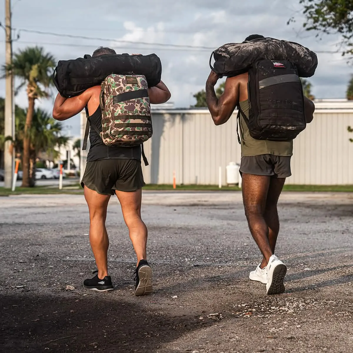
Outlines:
{"label": "olive green tank top under the black backpack", "polygon": [[[249,117],[249,100],[239,102],[240,109],[246,117]],[[263,154],[271,154],[275,156],[292,156],[293,140],[288,142],[256,140],[250,136],[249,129],[240,115],[240,139],[241,139],[241,156],[259,156]]]}

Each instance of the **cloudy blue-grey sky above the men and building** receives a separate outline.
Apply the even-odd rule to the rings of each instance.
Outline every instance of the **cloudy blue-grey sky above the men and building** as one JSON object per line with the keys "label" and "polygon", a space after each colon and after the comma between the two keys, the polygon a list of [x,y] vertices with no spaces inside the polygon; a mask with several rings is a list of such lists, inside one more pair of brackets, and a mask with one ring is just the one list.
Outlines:
{"label": "cloudy blue-grey sky above the men and building", "polygon": [[[5,22],[4,2],[1,23]],[[118,53],[156,53],[162,61],[162,80],[172,92],[170,101],[176,107],[189,107],[195,104],[192,95],[204,88],[212,49],[259,33],[299,42],[318,52],[319,65],[310,78],[313,94],[317,98],[344,97],[353,68],[340,53],[327,53],[339,49],[340,38],[333,35],[320,40],[315,33],[305,32],[296,2],[299,0],[12,0],[13,33],[20,35],[13,50],[38,45],[57,60],[91,54],[98,46],[110,46]],[[287,25],[293,16],[297,21]],[[1,43],[2,65],[5,32]],[[5,96],[4,80],[0,80],[0,96]],[[53,101],[44,100],[38,106],[51,110]],[[26,107],[24,91],[16,103]],[[64,126],[78,135],[78,116],[65,121]]]}

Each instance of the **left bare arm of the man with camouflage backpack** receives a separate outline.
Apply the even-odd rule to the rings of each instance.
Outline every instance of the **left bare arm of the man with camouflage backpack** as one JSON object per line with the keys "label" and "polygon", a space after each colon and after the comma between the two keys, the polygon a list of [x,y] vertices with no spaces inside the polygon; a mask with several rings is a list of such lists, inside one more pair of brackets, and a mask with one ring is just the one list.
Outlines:
{"label": "left bare arm of the man with camouflage backpack", "polygon": [[58,93],[54,102],[53,118],[62,121],[72,118],[72,116],[81,112],[90,100],[94,89],[85,90],[79,96],[72,98],[64,98]]}

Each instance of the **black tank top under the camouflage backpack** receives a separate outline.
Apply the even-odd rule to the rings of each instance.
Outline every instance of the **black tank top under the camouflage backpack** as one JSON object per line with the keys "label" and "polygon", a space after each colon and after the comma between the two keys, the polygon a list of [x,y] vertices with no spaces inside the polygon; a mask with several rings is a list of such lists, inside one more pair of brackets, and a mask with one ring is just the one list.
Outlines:
{"label": "black tank top under the camouflage backpack", "polygon": [[[102,131],[102,109],[97,110],[89,117],[91,125]],[[96,130],[91,127],[89,132],[90,149],[87,154],[87,162],[101,159],[137,159],[141,161],[141,146],[117,147],[107,146],[103,143]]]}

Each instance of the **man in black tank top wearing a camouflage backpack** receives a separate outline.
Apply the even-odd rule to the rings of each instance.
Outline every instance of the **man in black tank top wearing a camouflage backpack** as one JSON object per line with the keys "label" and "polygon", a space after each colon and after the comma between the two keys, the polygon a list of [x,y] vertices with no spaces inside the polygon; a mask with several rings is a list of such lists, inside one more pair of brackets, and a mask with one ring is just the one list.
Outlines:
{"label": "man in black tank top wearing a camouflage backpack", "polygon": [[[104,54],[116,53],[100,47],[92,56]],[[55,99],[54,119],[69,119],[85,108],[91,126],[90,150],[81,185],[89,208],[89,237],[97,274],[84,281],[86,289],[100,292],[113,289],[108,276],[109,239],[105,221],[110,196],[115,194],[137,255],[134,294],[152,291],[152,270],[146,261],[147,228],[141,219],[145,185],[141,145],[152,136],[150,103],[164,103],[169,98],[170,92],[162,81],[148,88],[143,76],[109,75],[102,86],[67,99],[58,94]]]}

